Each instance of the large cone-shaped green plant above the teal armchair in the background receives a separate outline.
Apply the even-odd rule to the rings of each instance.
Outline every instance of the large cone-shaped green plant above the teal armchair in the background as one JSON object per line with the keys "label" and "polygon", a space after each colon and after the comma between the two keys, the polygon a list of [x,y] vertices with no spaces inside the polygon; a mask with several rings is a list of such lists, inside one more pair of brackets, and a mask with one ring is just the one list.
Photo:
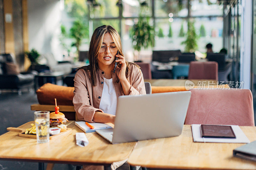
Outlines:
{"label": "large cone-shaped green plant above the teal armchair in the background", "polygon": [[194,26],[194,22],[188,21],[187,39],[181,43],[181,44],[186,45],[185,46],[186,52],[195,52],[196,51],[197,39],[198,39],[198,36],[196,35],[196,29]]}

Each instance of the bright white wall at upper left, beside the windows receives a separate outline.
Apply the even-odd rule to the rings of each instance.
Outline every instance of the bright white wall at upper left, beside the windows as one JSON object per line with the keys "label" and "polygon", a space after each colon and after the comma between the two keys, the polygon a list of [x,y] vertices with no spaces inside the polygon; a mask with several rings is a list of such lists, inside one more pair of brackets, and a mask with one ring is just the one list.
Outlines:
{"label": "bright white wall at upper left, beside the windows", "polygon": [[62,60],[59,42],[61,21],[60,0],[28,0],[29,50],[35,48],[40,54],[53,53]]}

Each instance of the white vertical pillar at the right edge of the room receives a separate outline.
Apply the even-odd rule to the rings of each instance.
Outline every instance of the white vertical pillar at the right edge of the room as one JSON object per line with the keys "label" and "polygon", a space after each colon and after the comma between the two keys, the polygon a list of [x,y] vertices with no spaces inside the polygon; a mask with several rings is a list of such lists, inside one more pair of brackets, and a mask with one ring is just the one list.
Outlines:
{"label": "white vertical pillar at the right edge of the room", "polygon": [[251,88],[252,0],[242,0],[240,82]]}

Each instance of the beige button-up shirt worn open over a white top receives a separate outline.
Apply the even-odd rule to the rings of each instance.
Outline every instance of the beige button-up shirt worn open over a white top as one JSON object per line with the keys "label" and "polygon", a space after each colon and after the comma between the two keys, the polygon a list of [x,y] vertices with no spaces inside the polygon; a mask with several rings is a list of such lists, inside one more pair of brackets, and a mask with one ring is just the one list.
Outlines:
{"label": "beige button-up shirt worn open over a white top", "polygon": [[[146,94],[141,70],[133,64],[130,65],[130,70],[131,72],[127,77],[127,80],[132,85],[129,95]],[[118,96],[124,95],[121,82],[119,81],[118,83],[116,83],[116,79],[118,78],[117,74],[119,73],[119,71],[119,67],[116,67],[116,73],[113,73],[113,70],[111,71],[117,98]],[[77,118],[79,120],[93,123],[94,121],[92,121],[92,118],[95,111],[103,112],[99,109],[99,106],[103,91],[104,74],[105,73],[99,69],[96,74],[97,86],[92,86],[92,83],[90,81],[90,73],[88,74],[84,69],[80,69],[77,71],[74,79],[75,90],[73,104]]]}

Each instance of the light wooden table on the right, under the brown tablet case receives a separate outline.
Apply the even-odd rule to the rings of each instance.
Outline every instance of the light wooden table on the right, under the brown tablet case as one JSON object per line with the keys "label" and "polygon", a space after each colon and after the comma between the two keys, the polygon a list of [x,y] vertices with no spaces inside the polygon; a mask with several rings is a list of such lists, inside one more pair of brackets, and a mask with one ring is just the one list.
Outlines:
{"label": "light wooden table on the right, under the brown tablet case", "polygon": [[[256,127],[240,126],[252,142]],[[256,169],[256,162],[233,157],[233,149],[244,144],[193,142],[191,125],[178,137],[139,141],[128,163],[168,169]]]}

